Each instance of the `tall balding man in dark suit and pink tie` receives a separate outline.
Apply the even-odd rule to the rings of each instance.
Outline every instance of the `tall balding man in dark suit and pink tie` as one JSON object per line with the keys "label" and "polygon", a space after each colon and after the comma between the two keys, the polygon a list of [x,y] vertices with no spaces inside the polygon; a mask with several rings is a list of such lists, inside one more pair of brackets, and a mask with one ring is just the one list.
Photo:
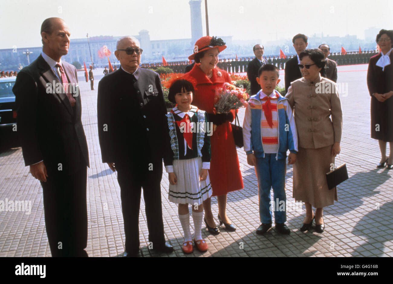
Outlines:
{"label": "tall balding man in dark suit and pink tie", "polygon": [[87,257],[89,156],[77,71],[61,60],[70,31],[61,18],[48,18],[41,37],[41,55],[19,72],[13,88],[23,158],[42,185],[52,256]]}

